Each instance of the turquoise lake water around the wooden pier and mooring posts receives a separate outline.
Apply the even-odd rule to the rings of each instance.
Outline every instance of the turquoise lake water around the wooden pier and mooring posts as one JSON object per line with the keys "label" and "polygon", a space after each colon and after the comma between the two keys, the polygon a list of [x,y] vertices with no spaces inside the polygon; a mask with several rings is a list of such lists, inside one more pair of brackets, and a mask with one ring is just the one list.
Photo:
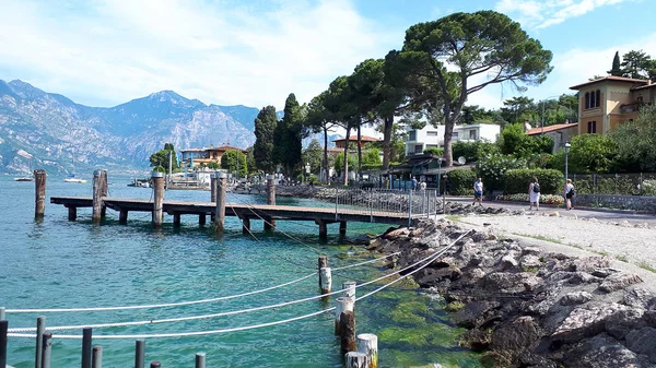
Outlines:
{"label": "turquoise lake water around the wooden pier and mooring posts", "polygon": [[[91,182],[91,178],[87,178]],[[129,177],[112,177],[109,195],[151,197],[150,189],[130,188]],[[313,223],[279,221],[279,232],[266,233],[261,221],[251,221],[256,240],[243,235],[235,217],[227,230],[214,236],[198,216],[183,215],[174,228],[165,216],[153,229],[150,214],[130,213],[128,225],[107,210],[102,226],[91,223],[91,209],[80,209],[78,221],[67,221],[67,210],[49,203],[50,195],[91,195],[91,185],[65,183],[48,177],[46,216],[35,222],[34,183],[0,177],[0,306],[8,309],[133,306],[207,299],[282,284],[316,270],[318,253],[331,266],[366,260],[359,247],[340,246],[337,225],[329,238],[318,241]],[[208,191],[167,191],[167,199],[207,201]],[[260,195],[230,197],[229,201],[265,203]],[[312,200],[279,198],[280,204],[330,205]],[[348,235],[380,233],[386,225],[349,224]],[[282,232],[295,237],[292,240]],[[343,281],[368,281],[380,275],[379,265],[363,265],[333,274],[333,288]],[[359,288],[358,295],[379,285]],[[268,293],[212,304],[120,311],[42,313],[47,325],[156,320],[239,310],[309,297],[318,293],[317,278]],[[173,323],[94,329],[94,336],[210,331],[284,320],[333,306],[330,300],[303,304],[230,317]],[[448,324],[443,304],[420,295],[413,287],[394,287],[361,300],[355,308],[358,333],[379,335],[380,367],[441,363],[447,367],[479,367],[476,356],[457,346],[461,332]],[[36,313],[8,313],[10,328],[36,324]],[[341,367],[333,317],[324,313],[261,329],[204,336],[145,339],[147,366],[191,367],[197,352],[207,353],[208,367]],[[55,332],[81,334],[81,331]],[[99,340],[104,367],[133,366],[134,340]],[[79,367],[81,340],[55,339],[52,367]],[[9,364],[34,367],[34,339],[10,337]]]}

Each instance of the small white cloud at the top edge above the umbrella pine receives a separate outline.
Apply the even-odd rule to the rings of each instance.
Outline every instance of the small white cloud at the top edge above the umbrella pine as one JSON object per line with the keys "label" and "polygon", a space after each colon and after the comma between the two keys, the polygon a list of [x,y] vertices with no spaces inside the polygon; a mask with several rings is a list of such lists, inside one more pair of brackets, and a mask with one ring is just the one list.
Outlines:
{"label": "small white cloud at the top edge above the umbrella pine", "polygon": [[517,14],[519,23],[526,27],[546,28],[596,8],[628,1],[635,0],[501,0],[494,8],[506,14]]}

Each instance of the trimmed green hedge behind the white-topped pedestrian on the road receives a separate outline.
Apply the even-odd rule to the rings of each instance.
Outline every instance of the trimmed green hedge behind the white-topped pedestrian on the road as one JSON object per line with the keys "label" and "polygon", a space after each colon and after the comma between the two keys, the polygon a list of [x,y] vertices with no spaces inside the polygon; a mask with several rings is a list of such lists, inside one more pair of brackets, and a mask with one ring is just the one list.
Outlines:
{"label": "trimmed green hedge behind the white-topped pedestrian on the road", "polygon": [[506,194],[528,193],[528,185],[538,178],[540,192],[543,194],[560,193],[564,186],[563,173],[546,168],[519,168],[507,170],[503,177]]}

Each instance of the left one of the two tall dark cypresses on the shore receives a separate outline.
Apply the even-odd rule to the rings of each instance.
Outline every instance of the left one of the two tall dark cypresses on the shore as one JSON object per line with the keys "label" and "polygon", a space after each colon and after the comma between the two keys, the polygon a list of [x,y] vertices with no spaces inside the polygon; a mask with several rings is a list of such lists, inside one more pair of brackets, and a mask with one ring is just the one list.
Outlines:
{"label": "left one of the two tall dark cypresses on the shore", "polygon": [[255,118],[255,145],[253,156],[257,168],[273,173],[273,131],[278,124],[276,107],[267,106]]}

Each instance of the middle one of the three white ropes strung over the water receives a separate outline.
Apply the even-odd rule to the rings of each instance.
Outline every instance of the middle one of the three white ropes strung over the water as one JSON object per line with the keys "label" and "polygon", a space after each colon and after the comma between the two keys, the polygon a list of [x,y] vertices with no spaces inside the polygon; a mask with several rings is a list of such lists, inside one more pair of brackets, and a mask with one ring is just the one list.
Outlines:
{"label": "middle one of the three white ropes strung over the water", "polygon": [[[471,232],[471,230],[470,230]],[[455,245],[458,240],[460,240],[462,237],[465,237],[467,234],[469,234],[470,232],[467,232],[465,234],[462,234],[458,239],[456,239],[453,244]],[[372,280],[370,282],[356,285],[355,288],[359,287],[363,287],[366,285],[370,285],[372,283],[378,282],[380,280],[384,278],[388,278],[390,276],[394,276],[396,274],[399,274],[403,271],[410,270],[414,266],[417,266],[420,263],[426,262],[423,266],[421,266],[418,270],[414,270],[412,272],[409,272],[407,275],[411,275],[414,272],[425,268],[426,265],[429,265],[432,261],[434,261],[437,257],[442,256],[445,251],[447,251],[452,246],[445,247],[444,249],[437,251],[436,253],[433,253],[420,261],[414,262],[413,264],[410,264],[401,270],[395,271],[393,273],[386,274],[382,277]],[[407,276],[406,275],[406,276]],[[385,287],[388,287],[395,283],[397,283],[398,281],[402,280],[403,277],[399,277],[390,283],[388,283],[387,285],[385,285],[382,288],[378,288],[377,290],[380,290]],[[364,297],[371,296],[375,293],[377,293],[377,290],[372,292],[366,294],[365,296],[356,299],[360,300]],[[162,320],[148,320],[148,321],[134,321],[134,322],[118,322],[118,323],[102,323],[102,324],[86,324],[86,325],[61,325],[61,327],[49,327],[46,328],[47,331],[60,331],[60,330],[78,330],[78,329],[84,329],[84,328],[95,328],[95,329],[101,329],[101,328],[113,328],[113,327],[128,327],[128,325],[144,325],[144,324],[155,324],[155,323],[167,323],[167,322],[179,322],[179,321],[191,321],[191,320],[199,320],[199,319],[210,319],[210,318],[218,318],[218,317],[225,317],[225,316],[234,316],[234,314],[242,314],[242,313],[247,313],[247,312],[253,312],[253,311],[259,311],[259,310],[266,310],[266,309],[272,309],[272,308],[280,308],[280,307],[285,307],[285,306],[290,306],[290,305],[295,305],[295,304],[300,304],[300,302],[304,302],[304,301],[309,301],[309,300],[315,300],[315,299],[319,299],[319,298],[324,298],[324,297],[328,297],[331,295],[337,295],[337,294],[341,294],[344,293],[344,289],[341,290],[337,290],[337,292],[331,292],[328,294],[323,294],[323,295],[315,295],[312,297],[307,297],[307,298],[303,298],[303,299],[297,299],[297,300],[291,300],[291,301],[284,301],[284,302],[280,302],[277,305],[269,305],[269,306],[262,306],[262,307],[255,307],[255,308],[249,308],[249,309],[243,309],[243,310],[233,310],[233,311],[227,311],[227,312],[220,312],[220,313],[213,313],[213,314],[204,314],[204,316],[190,316],[190,317],[179,317],[179,318],[171,318],[171,319],[162,319]],[[332,310],[333,308],[329,309]],[[325,310],[327,311],[327,310]],[[315,316],[315,314],[312,314]],[[230,329],[229,329],[230,330]],[[28,331],[36,331],[35,328],[16,328],[16,329],[10,329],[9,332],[11,332],[11,336],[14,337],[33,337],[33,335],[26,335],[26,334],[20,334],[16,332],[28,332]],[[216,331],[221,331],[221,332],[216,332],[216,333],[222,333],[222,332],[232,332],[232,331],[224,331],[224,330],[216,330]],[[241,331],[241,330],[235,330],[235,331]],[[72,336],[72,337],[71,337]],[[116,335],[105,335],[105,336],[98,336],[97,339],[118,339],[115,337]],[[134,335],[137,336],[137,335]],[[140,335],[141,336],[141,335]],[[144,337],[172,337],[172,336],[177,336],[177,334],[163,334],[163,335],[143,335]],[[56,337],[60,337],[60,339],[80,339],[81,336],[79,335],[58,335]],[[94,336],[96,337],[96,336]],[[127,337],[126,337],[127,339]],[[131,339],[140,339],[140,337],[131,337]]]}

